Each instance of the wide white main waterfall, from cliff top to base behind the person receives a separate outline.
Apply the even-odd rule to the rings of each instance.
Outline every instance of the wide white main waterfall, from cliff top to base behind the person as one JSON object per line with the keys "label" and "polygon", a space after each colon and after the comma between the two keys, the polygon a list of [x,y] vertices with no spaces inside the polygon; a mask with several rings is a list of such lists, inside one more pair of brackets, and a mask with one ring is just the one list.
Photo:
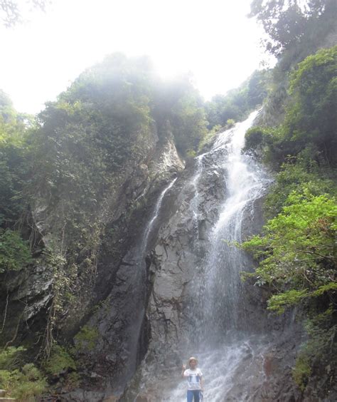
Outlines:
{"label": "wide white main waterfall, from cliff top to base behind the person", "polygon": [[[264,376],[262,340],[247,333],[242,335],[239,330],[245,320],[240,316],[240,272],[247,269],[247,257],[232,244],[241,241],[244,217],[251,213],[255,200],[262,197],[269,183],[262,168],[249,155],[242,153],[245,132],[256,115],[257,112],[252,113],[244,122],[221,133],[213,148],[198,157],[196,174],[191,180],[195,188],[191,210],[196,221],[198,183],[203,178],[203,163],[223,177],[225,187],[218,220],[208,232],[210,247],[201,263],[204,274],[196,279],[194,287],[194,292],[201,293],[202,297],[193,311],[197,334],[193,334],[193,339],[198,341],[191,344],[191,351],[193,354],[199,352],[205,374],[205,400],[212,402],[236,401],[228,398],[234,378],[237,383],[240,376],[245,381],[240,401],[253,400],[250,399],[250,378]],[[242,362],[245,368],[242,368]],[[185,386],[181,383],[165,400],[183,401]]]}

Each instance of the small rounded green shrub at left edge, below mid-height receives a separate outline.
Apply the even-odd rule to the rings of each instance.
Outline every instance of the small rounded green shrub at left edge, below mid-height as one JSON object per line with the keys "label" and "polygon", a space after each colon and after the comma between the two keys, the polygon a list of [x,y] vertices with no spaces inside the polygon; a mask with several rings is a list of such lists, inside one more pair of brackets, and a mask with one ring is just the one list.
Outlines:
{"label": "small rounded green shrub at left edge, below mid-height", "polygon": [[32,262],[28,242],[18,232],[0,229],[0,274],[17,271]]}

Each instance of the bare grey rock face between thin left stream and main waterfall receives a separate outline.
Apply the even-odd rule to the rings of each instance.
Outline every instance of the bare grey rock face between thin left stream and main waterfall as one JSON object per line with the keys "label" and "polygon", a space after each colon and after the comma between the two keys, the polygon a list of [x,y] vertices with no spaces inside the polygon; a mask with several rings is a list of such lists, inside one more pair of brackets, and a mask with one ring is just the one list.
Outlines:
{"label": "bare grey rock face between thin left stream and main waterfall", "polygon": [[219,201],[224,195],[223,183],[213,168],[203,180],[207,188],[200,185],[200,215],[196,220],[191,209],[195,196],[193,175],[185,172],[181,177],[176,197],[172,195],[167,200],[164,223],[151,253],[153,285],[146,314],[151,322],[151,340],[163,347],[181,344],[191,329],[191,317],[184,306],[189,304],[194,279],[200,274],[200,259],[209,246],[204,233],[218,216]]}

